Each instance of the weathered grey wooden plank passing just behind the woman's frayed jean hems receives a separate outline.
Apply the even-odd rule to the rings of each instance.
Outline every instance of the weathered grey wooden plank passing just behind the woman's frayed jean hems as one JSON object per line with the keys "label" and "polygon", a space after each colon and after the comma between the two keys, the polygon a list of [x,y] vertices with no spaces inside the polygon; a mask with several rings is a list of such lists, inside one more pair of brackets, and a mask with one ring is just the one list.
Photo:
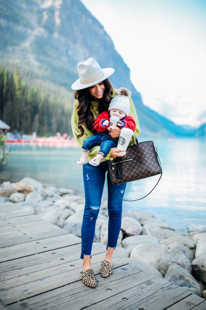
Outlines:
{"label": "weathered grey wooden plank passing just behind the woman's frayed jean hems", "polygon": [[[92,255],[105,252],[99,249],[97,246],[93,246]],[[53,254],[55,253],[55,254]],[[0,287],[1,289],[11,288],[20,284],[25,284],[30,281],[32,272],[48,269],[50,267],[58,266],[61,264],[69,263],[74,260],[78,260],[81,253],[81,244],[67,246],[58,250],[51,250],[46,253],[40,253],[38,255],[27,256],[21,259],[15,259],[15,261],[8,261],[0,264]],[[14,280],[15,275],[15,280]],[[26,275],[26,277],[21,277]],[[18,277],[18,279],[17,279]],[[9,280],[10,281],[6,281]],[[1,281],[4,284],[1,285]]]}

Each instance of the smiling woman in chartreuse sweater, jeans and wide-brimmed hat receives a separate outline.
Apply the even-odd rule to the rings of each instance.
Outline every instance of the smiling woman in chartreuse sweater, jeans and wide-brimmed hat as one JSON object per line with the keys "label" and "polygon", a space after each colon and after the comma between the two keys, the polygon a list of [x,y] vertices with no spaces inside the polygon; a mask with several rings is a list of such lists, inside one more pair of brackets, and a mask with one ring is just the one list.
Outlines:
{"label": "smiling woman in chartreuse sweater, jeans and wide-brimmed hat", "polygon": [[[72,89],[75,90],[74,97],[77,101],[74,103],[74,111],[72,115],[72,131],[74,138],[81,149],[84,140],[95,135],[93,127],[94,121],[99,113],[107,111],[111,99],[115,96],[117,90],[113,90],[108,77],[114,73],[114,69],[101,69],[99,64],[89,58],[83,63],[78,64],[79,79],[74,82]],[[136,130],[130,144],[136,144],[135,137],[139,135],[139,122],[134,104],[130,99],[130,113],[136,122]],[[112,138],[120,136],[120,128],[108,130]],[[99,146],[91,149],[89,160],[97,156]],[[120,150],[120,152],[124,150]],[[107,156],[101,161],[100,165],[95,167],[90,164],[83,166],[83,179],[85,189],[85,209],[82,221],[82,253],[80,259],[83,259],[82,281],[90,287],[95,287],[96,278],[91,268],[91,249],[95,235],[95,223],[100,210],[101,198],[103,193],[105,173],[107,172],[107,159],[113,159],[117,156],[124,156],[126,152],[119,154],[116,148],[112,148]],[[121,228],[122,216],[122,200],[117,198],[124,197],[126,183],[120,185],[111,185],[112,195],[110,191],[110,179],[107,174],[108,184],[108,242],[105,259],[101,264],[100,273],[103,277],[107,277],[112,273],[112,257],[116,248],[117,239]]]}

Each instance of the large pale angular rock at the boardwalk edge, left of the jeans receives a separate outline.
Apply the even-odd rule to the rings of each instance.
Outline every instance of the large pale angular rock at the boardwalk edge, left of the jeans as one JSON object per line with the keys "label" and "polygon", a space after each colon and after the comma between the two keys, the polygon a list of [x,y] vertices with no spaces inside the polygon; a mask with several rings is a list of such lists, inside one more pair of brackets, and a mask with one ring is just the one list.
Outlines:
{"label": "large pale angular rock at the boardwalk edge, left of the jeans", "polygon": [[62,210],[58,206],[50,206],[45,211],[37,214],[41,219],[44,219],[51,224],[62,227],[63,219],[61,219]]}

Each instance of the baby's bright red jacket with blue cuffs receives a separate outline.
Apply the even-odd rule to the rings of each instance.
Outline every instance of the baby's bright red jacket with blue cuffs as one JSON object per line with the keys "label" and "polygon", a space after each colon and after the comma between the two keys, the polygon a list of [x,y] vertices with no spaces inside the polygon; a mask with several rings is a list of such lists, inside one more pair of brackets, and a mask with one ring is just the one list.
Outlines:
{"label": "baby's bright red jacket with blue cuffs", "polygon": [[[104,121],[109,121],[110,119],[110,114],[109,111],[105,111],[99,114],[99,116],[97,117],[96,121],[94,122],[94,128],[95,130],[99,131],[99,132],[103,132],[106,131],[108,126],[104,126],[102,125],[102,123]],[[120,128],[129,128],[132,129],[132,131],[135,131],[136,128],[136,124],[134,121],[134,118],[132,116],[125,116],[123,118],[120,119],[121,122],[124,123],[123,126],[119,126]]]}

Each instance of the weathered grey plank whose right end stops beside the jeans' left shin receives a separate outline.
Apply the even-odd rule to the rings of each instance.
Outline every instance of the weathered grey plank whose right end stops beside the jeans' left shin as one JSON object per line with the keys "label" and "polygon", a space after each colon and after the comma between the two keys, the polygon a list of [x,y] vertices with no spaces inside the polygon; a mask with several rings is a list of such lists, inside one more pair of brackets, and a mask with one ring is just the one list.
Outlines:
{"label": "weathered grey plank whose right end stops beside the jeans' left shin", "polygon": [[78,243],[81,243],[81,238],[70,233],[31,242],[20,243],[14,246],[2,248],[0,251],[0,262],[18,259],[20,257],[47,252],[50,250],[60,249],[65,246],[71,246]]}

